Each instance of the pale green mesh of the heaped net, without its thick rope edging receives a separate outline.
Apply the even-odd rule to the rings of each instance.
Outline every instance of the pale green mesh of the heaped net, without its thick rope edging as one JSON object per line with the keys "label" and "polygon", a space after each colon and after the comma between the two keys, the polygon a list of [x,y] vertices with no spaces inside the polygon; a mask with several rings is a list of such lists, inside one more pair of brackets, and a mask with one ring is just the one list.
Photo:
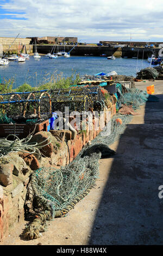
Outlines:
{"label": "pale green mesh of the heaped net, without its thick rope edging", "polygon": [[60,169],[40,168],[36,170],[33,174],[36,196],[50,200],[55,211],[62,210],[91,184],[95,184],[99,175],[98,160],[101,156],[110,156],[115,153],[108,146],[123,133],[131,117],[123,116],[122,125],[117,123],[116,119],[117,116],[111,121],[110,135],[107,130],[101,132],[91,142],[91,145],[80,151],[67,166]]}

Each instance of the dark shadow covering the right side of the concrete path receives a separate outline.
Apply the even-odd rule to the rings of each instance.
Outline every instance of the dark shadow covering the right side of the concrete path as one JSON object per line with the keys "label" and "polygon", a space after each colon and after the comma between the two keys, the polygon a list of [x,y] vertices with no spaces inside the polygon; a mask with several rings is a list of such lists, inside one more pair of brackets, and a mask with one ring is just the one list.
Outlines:
{"label": "dark shadow covering the right side of the concrete path", "polygon": [[163,95],[156,96],[159,102],[146,103],[144,124],[128,124],[120,138],[89,245],[163,242]]}

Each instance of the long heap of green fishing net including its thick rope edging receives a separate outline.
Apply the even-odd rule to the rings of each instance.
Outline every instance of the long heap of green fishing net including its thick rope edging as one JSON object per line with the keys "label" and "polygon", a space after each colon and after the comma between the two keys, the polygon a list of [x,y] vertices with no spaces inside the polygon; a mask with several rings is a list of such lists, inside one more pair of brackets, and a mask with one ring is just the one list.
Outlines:
{"label": "long heap of green fishing net including its thick rope edging", "polygon": [[[121,122],[117,121],[118,117]],[[30,213],[33,212],[35,219],[24,231],[27,239],[39,237],[40,231],[45,231],[46,220],[65,216],[90,192],[99,176],[98,160],[115,154],[109,145],[121,136],[130,120],[130,115],[116,115],[110,126],[107,125],[70,164],[60,169],[43,167],[32,174],[33,209]]]}

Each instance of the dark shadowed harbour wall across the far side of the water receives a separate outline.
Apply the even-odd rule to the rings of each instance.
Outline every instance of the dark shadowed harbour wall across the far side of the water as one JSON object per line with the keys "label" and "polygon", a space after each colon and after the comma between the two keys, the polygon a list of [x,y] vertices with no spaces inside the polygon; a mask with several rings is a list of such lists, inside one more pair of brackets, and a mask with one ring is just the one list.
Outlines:
{"label": "dark shadowed harbour wall across the far side of the water", "polygon": [[[39,53],[51,52],[53,45],[37,45],[37,51]],[[69,52],[73,46],[70,45],[59,45],[58,51]],[[109,47],[109,46],[76,46],[72,51],[72,56],[84,56],[85,54],[93,54],[93,56],[100,56],[101,54],[106,54],[106,56],[115,57],[137,57],[138,58],[148,58],[154,52],[156,56],[158,55],[159,48],[143,48],[143,47]]]}

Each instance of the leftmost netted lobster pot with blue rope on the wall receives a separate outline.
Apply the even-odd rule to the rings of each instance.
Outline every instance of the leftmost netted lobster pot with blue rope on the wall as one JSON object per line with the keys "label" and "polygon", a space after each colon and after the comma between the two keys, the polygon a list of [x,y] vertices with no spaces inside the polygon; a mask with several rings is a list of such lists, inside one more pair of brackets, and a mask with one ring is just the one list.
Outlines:
{"label": "leftmost netted lobster pot with blue rope on the wall", "polygon": [[[13,120],[51,117],[51,96],[47,90],[24,93],[0,94],[0,111]],[[22,120],[23,119],[23,120]]]}

